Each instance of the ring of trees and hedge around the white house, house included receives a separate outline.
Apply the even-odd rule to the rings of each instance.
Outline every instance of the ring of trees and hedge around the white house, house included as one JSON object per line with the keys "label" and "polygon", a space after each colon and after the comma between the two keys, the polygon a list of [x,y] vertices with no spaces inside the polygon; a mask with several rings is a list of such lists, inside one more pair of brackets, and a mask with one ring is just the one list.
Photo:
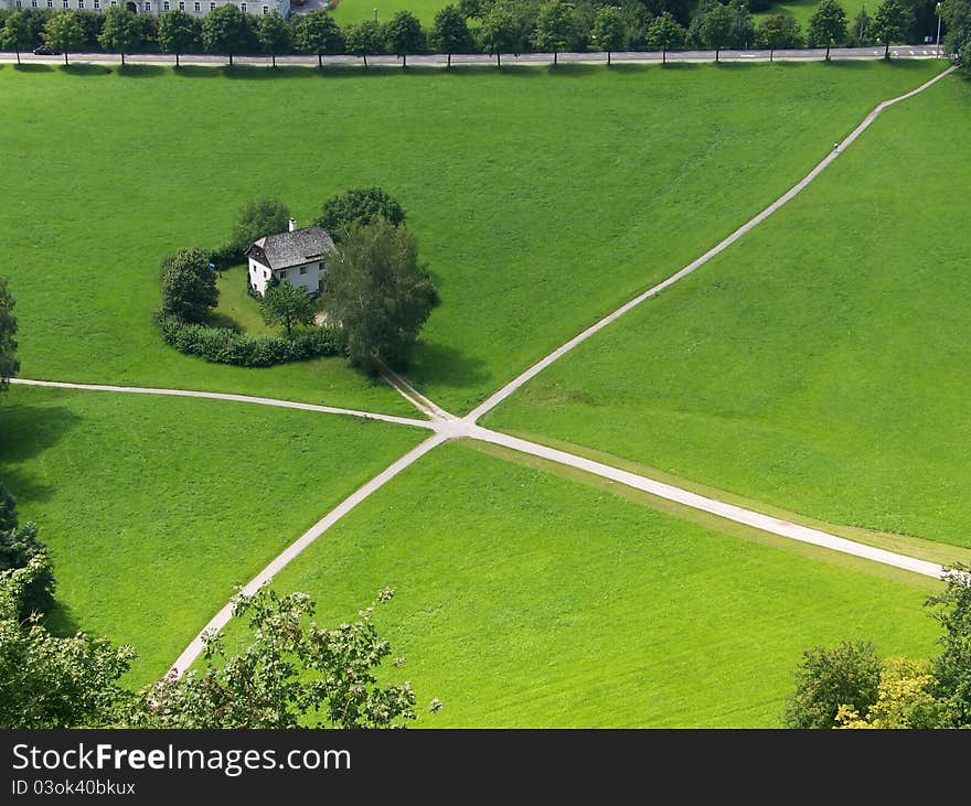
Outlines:
{"label": "ring of trees and hedge around the white house, house included", "polygon": [[[213,322],[214,268],[239,262],[247,264],[246,290],[264,321],[282,327],[285,336],[252,335]],[[383,364],[404,366],[438,302],[404,208],[380,187],[328,200],[305,229],[296,228],[278,200],[252,200],[225,245],[167,257],[161,289],[156,322],[169,345],[246,367],[341,354],[369,373]],[[326,325],[316,323],[318,291]]]}

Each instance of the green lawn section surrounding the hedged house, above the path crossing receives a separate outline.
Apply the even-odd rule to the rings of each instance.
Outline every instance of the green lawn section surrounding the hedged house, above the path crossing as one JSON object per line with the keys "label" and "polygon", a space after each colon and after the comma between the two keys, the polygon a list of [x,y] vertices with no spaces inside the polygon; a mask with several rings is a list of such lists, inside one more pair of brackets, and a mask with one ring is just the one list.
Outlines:
{"label": "green lawn section surrounding the hedged house, above the path crossing", "polygon": [[[241,369],[151,322],[161,257],[268,194],[298,222],[350,186],[398,196],[442,304],[412,375],[467,410],[687,262],[938,65],[422,72],[0,68],[0,208],[22,374],[405,411],[341,359]],[[274,123],[260,120],[274,109]],[[52,144],[52,132],[70,137]]]}

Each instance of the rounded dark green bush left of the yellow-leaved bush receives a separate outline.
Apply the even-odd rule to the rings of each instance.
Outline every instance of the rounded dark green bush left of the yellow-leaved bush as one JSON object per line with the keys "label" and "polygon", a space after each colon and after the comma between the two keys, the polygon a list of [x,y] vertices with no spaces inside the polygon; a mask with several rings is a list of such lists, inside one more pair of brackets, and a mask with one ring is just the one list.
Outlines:
{"label": "rounded dark green bush left of the yellow-leaved bush", "polygon": [[789,728],[833,728],[841,706],[865,719],[877,700],[879,680],[873,644],[844,641],[832,649],[809,649],[802,654],[783,721]]}

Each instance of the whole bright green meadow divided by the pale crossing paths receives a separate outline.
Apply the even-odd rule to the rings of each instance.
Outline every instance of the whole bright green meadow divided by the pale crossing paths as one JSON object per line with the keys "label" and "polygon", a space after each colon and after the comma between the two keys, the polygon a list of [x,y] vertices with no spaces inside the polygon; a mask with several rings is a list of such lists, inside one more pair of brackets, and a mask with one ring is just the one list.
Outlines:
{"label": "whole bright green meadow divided by the pale crossing paths", "polygon": [[[151,319],[162,257],[225,239],[248,198],[279,197],[303,225],[329,196],[380,185],[441,298],[406,374],[465,412],[941,68],[2,66],[0,153],[17,182],[0,277],[20,374],[415,416],[342,359],[207,364]],[[873,539],[915,556],[950,549],[895,535],[971,547],[971,245],[954,203],[969,111],[971,86],[952,78],[892,109],[769,222],[487,425],[840,534],[889,533]],[[221,278],[218,314],[263,332],[239,272]],[[0,480],[51,547],[52,625],[132,644],[140,684],[234,584],[425,436],[13,386]],[[423,458],[275,583],[312,593],[326,624],[384,585],[398,594],[378,625],[408,658],[390,674],[445,702],[423,727],[771,727],[809,646],[933,651],[930,580],[466,443]]]}

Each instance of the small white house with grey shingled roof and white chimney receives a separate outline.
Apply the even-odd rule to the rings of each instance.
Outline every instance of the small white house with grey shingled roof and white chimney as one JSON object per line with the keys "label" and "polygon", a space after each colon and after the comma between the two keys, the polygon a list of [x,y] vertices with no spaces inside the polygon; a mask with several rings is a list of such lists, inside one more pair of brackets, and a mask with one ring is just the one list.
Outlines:
{"label": "small white house with grey shingled roof and white chimney", "polygon": [[290,218],[290,228],[277,235],[264,235],[246,250],[249,267],[249,287],[266,293],[270,278],[289,280],[291,286],[307,293],[318,293],[327,272],[324,256],[333,251],[333,240],[320,227],[297,229]]}

